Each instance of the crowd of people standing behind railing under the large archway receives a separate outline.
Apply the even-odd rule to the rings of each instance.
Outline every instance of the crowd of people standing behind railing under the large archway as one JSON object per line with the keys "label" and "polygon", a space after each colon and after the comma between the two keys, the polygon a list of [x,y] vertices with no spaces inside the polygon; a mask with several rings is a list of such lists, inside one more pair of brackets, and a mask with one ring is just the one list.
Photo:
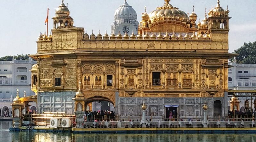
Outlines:
{"label": "crowd of people standing behind railing under the large archway", "polygon": [[109,110],[85,111],[84,121],[115,121],[115,113]]}

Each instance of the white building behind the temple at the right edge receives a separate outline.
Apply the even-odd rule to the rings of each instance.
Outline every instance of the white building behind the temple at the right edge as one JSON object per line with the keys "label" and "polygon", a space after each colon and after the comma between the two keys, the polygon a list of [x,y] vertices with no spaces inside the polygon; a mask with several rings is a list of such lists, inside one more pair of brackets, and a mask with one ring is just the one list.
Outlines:
{"label": "white building behind the temple at the right edge", "polygon": [[[255,90],[256,89],[256,64],[236,64],[229,63],[228,69],[228,89]],[[245,95],[245,94],[244,94]],[[254,109],[254,97],[239,97],[240,110],[245,111],[244,101],[248,99],[249,107]],[[228,99],[229,100],[229,99]],[[252,101],[251,101],[252,100]],[[252,104],[251,104],[252,102]],[[251,106],[252,105],[252,106]],[[228,103],[230,107],[230,103]]]}

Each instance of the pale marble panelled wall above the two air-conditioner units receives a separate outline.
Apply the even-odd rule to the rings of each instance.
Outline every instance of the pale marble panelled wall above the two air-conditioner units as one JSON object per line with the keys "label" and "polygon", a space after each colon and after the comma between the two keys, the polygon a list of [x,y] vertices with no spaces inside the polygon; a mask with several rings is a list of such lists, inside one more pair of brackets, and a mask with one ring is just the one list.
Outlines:
{"label": "pale marble panelled wall above the two air-conditioner units", "polygon": [[39,92],[37,98],[38,111],[43,112],[65,112],[65,114],[74,114],[74,100],[72,98],[76,92]]}

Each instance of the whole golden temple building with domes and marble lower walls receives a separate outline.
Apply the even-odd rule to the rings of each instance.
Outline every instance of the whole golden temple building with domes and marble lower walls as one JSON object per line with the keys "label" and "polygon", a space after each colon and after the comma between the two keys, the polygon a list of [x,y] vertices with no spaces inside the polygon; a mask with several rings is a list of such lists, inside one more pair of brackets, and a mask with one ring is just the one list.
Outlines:
{"label": "whole golden temple building with domes and marble lower walls", "polygon": [[89,35],[69,14],[62,1],[52,35],[40,35],[31,55],[38,61],[32,90],[39,112],[74,113],[100,100],[113,103],[119,116],[140,116],[143,101],[147,116],[168,115],[173,105],[180,116],[199,116],[205,101],[208,115],[226,113],[234,55],[228,53],[229,11],[219,0],[198,24],[194,10],[187,15],[165,0],[150,14],[145,9],[138,35]]}

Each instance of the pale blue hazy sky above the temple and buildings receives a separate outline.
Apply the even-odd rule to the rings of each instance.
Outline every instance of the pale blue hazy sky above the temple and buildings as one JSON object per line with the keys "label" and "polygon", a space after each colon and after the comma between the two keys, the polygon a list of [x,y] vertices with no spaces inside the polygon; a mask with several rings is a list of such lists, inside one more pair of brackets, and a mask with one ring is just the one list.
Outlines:
{"label": "pale blue hazy sky above the temple and buildings", "polygon": [[[162,6],[164,0],[127,0],[141,20],[141,13],[147,6],[148,13],[156,7]],[[16,54],[35,54],[36,41],[40,32],[46,31],[44,20],[49,11],[49,29],[53,28],[52,17],[55,8],[61,0],[2,0],[0,22],[0,57]],[[84,27],[91,34],[92,30],[107,30],[110,34],[111,23],[115,10],[124,3],[124,0],[64,0],[68,3],[70,16],[74,19],[74,26]],[[170,3],[186,13],[192,12],[192,5],[198,19],[204,18],[204,9],[207,10],[217,4],[217,0],[171,0]],[[256,0],[220,0],[220,5],[228,5],[229,16],[229,52],[241,47],[244,42],[256,41]]]}

